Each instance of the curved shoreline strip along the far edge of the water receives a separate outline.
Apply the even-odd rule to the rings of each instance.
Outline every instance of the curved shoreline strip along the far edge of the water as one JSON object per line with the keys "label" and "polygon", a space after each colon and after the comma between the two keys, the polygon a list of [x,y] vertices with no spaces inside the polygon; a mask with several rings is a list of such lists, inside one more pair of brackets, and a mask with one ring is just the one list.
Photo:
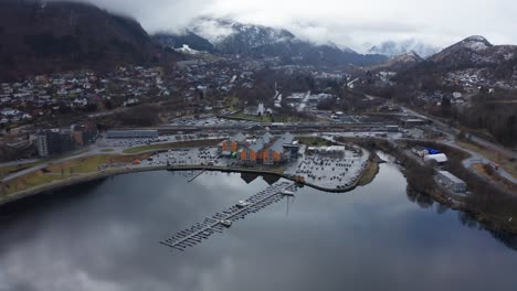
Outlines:
{"label": "curved shoreline strip along the far edge of the water", "polygon": [[[154,171],[172,171],[172,172],[182,172],[182,171],[209,171],[209,172],[221,172],[221,173],[251,173],[251,174],[265,174],[265,175],[275,175],[281,179],[286,179],[293,182],[295,181],[294,177],[285,174],[281,174],[274,171],[267,171],[267,170],[254,170],[254,169],[241,169],[241,168],[223,168],[223,166],[202,166],[202,165],[188,165],[188,166],[167,166],[167,165],[160,165],[160,166],[148,166],[148,168],[141,168],[141,169],[135,169],[135,168],[129,168],[129,169],[112,169],[112,170],[106,170],[103,172],[94,172],[94,173],[88,173],[88,174],[82,174],[81,176],[77,176],[75,179],[68,179],[64,181],[54,181],[45,185],[41,186],[35,186],[32,188],[23,190],[20,192],[15,192],[12,194],[7,195],[6,197],[0,198],[0,207],[3,207],[10,203],[14,203],[28,197],[32,197],[39,194],[44,194],[46,192],[51,191],[56,191],[60,188],[73,186],[73,185],[78,185],[105,177],[110,177],[110,176],[116,176],[116,175],[123,175],[123,174],[129,174],[129,173],[141,173],[141,172],[154,172]],[[319,191],[328,192],[328,193],[347,193],[352,190],[355,190],[358,186],[363,186],[366,184],[369,184],[371,181],[368,181],[368,183],[361,183],[362,176],[366,171],[362,171],[361,175],[357,179],[357,181],[345,188],[326,188],[323,186],[318,186],[312,183],[299,183],[304,186],[313,187]],[[377,174],[376,174],[377,175]]]}

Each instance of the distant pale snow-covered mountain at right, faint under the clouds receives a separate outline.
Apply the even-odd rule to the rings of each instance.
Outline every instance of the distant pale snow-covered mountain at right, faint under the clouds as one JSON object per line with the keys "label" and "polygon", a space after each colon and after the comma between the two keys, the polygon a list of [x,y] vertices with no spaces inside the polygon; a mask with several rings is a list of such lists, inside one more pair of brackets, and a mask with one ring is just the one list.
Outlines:
{"label": "distant pale snow-covered mountain at right, faint under the clouds", "polygon": [[374,45],[368,50],[370,54],[381,54],[387,56],[398,56],[407,53],[414,52],[419,56],[428,57],[437,53],[440,48],[422,43],[418,40],[410,39],[401,42],[387,41],[381,44]]}

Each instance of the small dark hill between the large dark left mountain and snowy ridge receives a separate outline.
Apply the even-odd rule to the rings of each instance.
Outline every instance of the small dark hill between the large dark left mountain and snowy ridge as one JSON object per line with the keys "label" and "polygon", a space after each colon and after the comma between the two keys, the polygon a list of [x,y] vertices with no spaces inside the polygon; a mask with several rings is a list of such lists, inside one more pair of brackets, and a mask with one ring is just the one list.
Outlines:
{"label": "small dark hill between the large dark left mountain and snowy ridge", "polygon": [[181,48],[188,45],[190,48],[201,52],[215,52],[215,47],[207,39],[187,31],[183,34],[158,33],[151,36],[152,41],[161,46]]}

